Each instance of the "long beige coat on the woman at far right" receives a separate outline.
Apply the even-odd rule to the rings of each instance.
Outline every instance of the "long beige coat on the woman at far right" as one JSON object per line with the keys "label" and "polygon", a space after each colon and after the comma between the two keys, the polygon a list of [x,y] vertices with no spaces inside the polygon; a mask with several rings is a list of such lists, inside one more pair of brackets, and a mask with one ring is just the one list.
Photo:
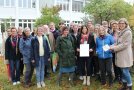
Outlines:
{"label": "long beige coat on the woman at far right", "polygon": [[126,28],[118,34],[114,51],[116,52],[115,64],[118,67],[124,68],[133,65],[132,32],[130,29]]}

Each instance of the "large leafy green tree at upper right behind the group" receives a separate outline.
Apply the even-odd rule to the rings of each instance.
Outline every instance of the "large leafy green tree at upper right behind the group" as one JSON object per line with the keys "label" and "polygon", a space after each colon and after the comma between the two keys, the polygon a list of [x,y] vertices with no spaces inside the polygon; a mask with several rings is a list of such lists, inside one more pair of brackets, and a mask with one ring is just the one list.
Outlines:
{"label": "large leafy green tree at upper right behind the group", "polygon": [[89,0],[84,12],[94,17],[95,22],[110,21],[132,15],[133,7],[124,0]]}

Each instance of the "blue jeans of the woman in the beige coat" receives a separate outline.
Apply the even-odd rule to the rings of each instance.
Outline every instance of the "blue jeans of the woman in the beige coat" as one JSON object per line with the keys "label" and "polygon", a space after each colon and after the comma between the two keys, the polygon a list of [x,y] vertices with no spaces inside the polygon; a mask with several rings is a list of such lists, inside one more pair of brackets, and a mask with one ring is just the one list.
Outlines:
{"label": "blue jeans of the woman in the beige coat", "polygon": [[132,78],[129,72],[129,68],[121,68],[122,81],[127,82],[127,86],[132,86]]}

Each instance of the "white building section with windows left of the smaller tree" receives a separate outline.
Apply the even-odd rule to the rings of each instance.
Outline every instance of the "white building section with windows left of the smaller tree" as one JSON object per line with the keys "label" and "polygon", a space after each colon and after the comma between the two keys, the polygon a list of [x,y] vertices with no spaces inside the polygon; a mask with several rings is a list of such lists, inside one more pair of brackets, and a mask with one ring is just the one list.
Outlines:
{"label": "white building section with windows left of the smaller tree", "polygon": [[0,0],[0,22],[15,27],[33,29],[35,19],[40,17],[39,0]]}

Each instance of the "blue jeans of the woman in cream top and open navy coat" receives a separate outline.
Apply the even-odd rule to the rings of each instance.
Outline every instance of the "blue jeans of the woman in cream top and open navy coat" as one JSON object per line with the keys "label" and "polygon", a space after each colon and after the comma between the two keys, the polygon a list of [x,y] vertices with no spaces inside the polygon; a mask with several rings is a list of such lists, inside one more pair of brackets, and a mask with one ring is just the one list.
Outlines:
{"label": "blue jeans of the woman in cream top and open navy coat", "polygon": [[37,83],[44,81],[44,56],[40,56],[39,65],[36,66],[36,79]]}

